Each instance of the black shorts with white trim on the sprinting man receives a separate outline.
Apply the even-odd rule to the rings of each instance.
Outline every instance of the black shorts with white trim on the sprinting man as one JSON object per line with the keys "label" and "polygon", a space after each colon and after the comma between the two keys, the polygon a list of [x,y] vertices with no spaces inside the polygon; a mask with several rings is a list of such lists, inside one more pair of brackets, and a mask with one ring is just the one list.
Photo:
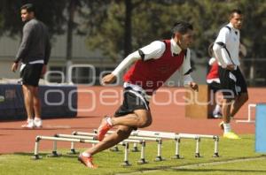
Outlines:
{"label": "black shorts with white trim on the sprinting man", "polygon": [[121,117],[133,113],[134,110],[150,110],[149,102],[145,96],[139,92],[127,87],[124,90],[124,100],[118,110],[115,111],[114,117]]}

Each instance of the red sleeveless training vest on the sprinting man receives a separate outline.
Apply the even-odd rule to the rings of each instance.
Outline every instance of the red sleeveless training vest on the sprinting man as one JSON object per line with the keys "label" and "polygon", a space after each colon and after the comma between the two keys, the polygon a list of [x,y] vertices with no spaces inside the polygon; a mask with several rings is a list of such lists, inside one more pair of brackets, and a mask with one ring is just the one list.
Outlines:
{"label": "red sleeveless training vest on the sprinting man", "polygon": [[123,77],[125,82],[142,87],[147,95],[153,95],[153,92],[161,87],[184,62],[184,50],[181,50],[177,56],[173,56],[170,40],[163,42],[166,49],[161,57],[137,60]]}

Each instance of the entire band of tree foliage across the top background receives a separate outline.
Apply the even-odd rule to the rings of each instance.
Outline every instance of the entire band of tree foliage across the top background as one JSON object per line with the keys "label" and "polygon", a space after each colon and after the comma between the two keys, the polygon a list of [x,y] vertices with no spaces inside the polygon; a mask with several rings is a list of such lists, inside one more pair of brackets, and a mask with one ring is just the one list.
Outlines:
{"label": "entire band of tree foliage across the top background", "polygon": [[[126,2],[131,2],[131,33],[125,40]],[[0,36],[21,31],[20,6],[35,4],[37,17],[43,20],[51,34],[66,32],[67,0],[1,0]],[[86,34],[90,49],[100,50],[113,62],[128,49],[139,49],[154,40],[167,39],[177,20],[192,23],[195,37],[192,49],[198,57],[207,57],[207,46],[214,42],[220,27],[228,23],[228,13],[239,8],[245,15],[241,32],[247,46],[247,57],[266,57],[266,1],[264,0],[76,0],[76,34]],[[129,22],[129,21],[127,21]],[[132,50],[132,51],[133,51]],[[126,50],[127,52],[129,50]]]}

